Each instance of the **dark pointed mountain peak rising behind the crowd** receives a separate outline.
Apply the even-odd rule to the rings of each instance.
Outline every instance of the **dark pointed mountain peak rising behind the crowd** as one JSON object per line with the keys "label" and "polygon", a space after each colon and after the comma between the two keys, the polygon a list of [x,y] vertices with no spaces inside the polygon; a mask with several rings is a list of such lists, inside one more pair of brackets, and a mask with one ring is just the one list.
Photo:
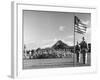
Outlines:
{"label": "dark pointed mountain peak rising behind the crowd", "polygon": [[69,46],[67,44],[65,44],[63,41],[58,40],[53,46],[53,49],[57,50],[57,49],[68,49]]}

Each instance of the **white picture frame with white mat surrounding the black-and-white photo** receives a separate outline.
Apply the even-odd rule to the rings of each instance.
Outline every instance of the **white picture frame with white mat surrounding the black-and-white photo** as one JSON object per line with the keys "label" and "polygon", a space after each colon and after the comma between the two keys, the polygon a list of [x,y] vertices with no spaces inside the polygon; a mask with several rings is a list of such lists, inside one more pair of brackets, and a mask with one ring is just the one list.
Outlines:
{"label": "white picture frame with white mat surrounding the black-and-white photo", "polygon": [[[25,10],[41,10],[41,11],[57,11],[57,12],[79,12],[79,13],[91,13],[91,27],[94,29],[96,26],[96,8],[86,7],[71,7],[71,6],[57,6],[57,5],[41,5],[41,4],[27,4],[12,2],[12,54],[11,54],[11,76],[13,78],[24,77],[40,77],[40,76],[54,76],[54,75],[66,75],[73,73],[90,73],[96,72],[96,53],[94,47],[94,41],[92,36],[92,54],[91,54],[91,66],[85,67],[66,67],[66,68],[50,68],[50,69],[22,69],[22,53],[23,53],[23,15],[22,11]],[[93,30],[92,30],[92,33]],[[95,54],[93,54],[95,53]],[[47,74],[48,72],[48,74]]]}

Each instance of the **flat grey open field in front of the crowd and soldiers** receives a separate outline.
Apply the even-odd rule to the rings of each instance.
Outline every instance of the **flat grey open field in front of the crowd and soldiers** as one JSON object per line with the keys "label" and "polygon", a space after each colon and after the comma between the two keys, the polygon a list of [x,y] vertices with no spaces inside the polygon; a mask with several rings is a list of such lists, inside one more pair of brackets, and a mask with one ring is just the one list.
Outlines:
{"label": "flat grey open field in front of the crowd and soldiers", "polygon": [[80,63],[77,63],[76,56],[74,58],[28,59],[23,60],[23,69],[90,66],[90,54],[87,57],[87,64],[82,64],[82,59]]}

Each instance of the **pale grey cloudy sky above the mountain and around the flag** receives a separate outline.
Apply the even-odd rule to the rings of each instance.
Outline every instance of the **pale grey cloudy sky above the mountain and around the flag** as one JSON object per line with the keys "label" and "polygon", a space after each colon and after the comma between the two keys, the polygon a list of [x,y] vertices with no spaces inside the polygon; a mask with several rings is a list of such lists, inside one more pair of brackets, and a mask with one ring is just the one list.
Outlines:
{"label": "pale grey cloudy sky above the mountain and around the flag", "polygon": [[[90,42],[91,28],[88,13],[24,10],[23,15],[24,44],[27,49],[51,47],[58,40],[73,46],[75,15],[87,24],[88,30],[84,36]],[[76,41],[81,41],[82,36],[75,33]]]}

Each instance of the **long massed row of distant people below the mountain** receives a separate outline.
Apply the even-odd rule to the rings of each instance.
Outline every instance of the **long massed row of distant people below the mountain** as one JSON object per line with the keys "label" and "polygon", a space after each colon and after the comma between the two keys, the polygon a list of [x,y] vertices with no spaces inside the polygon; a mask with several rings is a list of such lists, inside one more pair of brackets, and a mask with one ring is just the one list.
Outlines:
{"label": "long massed row of distant people below the mountain", "polygon": [[38,58],[65,58],[72,57],[72,53],[67,50],[54,50],[54,49],[36,49],[24,50],[24,58],[38,59]]}

